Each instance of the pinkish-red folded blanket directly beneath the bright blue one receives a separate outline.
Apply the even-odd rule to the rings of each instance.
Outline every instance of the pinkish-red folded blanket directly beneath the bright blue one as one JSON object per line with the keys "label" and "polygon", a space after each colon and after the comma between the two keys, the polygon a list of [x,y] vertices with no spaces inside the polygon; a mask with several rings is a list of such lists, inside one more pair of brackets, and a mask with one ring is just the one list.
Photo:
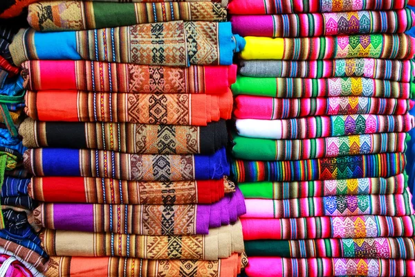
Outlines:
{"label": "pinkish-red folded blanket directly beneath the bright blue one", "polygon": [[26,89],[124,93],[221,94],[235,82],[237,71],[236,65],[178,67],[84,60],[32,60],[21,66]]}

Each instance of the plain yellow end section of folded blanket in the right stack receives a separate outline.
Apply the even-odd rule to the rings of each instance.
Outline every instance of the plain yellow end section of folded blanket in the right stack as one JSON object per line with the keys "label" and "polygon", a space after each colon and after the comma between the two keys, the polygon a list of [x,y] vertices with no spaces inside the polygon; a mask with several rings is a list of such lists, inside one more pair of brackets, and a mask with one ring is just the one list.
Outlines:
{"label": "plain yellow end section of folded blanket in the right stack", "polygon": [[241,52],[243,60],[282,60],[284,39],[271,37],[244,37],[246,46]]}

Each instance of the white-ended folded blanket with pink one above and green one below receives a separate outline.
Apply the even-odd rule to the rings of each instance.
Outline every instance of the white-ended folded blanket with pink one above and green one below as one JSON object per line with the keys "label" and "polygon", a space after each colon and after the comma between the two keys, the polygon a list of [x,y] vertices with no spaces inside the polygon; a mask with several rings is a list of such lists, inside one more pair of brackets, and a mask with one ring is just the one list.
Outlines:
{"label": "white-ended folded blanket with pink one above and green one below", "polygon": [[347,116],[310,116],[284,120],[237,119],[241,136],[261,139],[312,139],[328,136],[350,136],[384,132],[408,132],[415,127],[415,118],[348,114]]}

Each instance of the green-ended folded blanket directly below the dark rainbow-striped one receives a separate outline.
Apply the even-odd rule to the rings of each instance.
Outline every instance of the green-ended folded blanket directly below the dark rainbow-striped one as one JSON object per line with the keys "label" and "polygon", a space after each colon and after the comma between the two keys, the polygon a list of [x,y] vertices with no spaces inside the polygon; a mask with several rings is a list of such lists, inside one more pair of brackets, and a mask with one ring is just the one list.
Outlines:
{"label": "green-ended folded blanket directly below the dark rainbow-striped one", "polygon": [[[335,179],[238,184],[245,198],[293,199],[330,195],[396,195],[407,188],[406,173],[389,178]],[[40,199],[39,199],[40,200]]]}

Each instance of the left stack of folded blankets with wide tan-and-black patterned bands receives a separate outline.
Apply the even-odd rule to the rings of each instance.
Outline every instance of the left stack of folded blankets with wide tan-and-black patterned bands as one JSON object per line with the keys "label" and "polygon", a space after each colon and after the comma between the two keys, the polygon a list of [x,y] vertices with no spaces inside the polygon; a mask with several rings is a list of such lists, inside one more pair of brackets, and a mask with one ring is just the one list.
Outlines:
{"label": "left stack of folded blankets with wide tan-and-black patterned bands", "polygon": [[[42,1],[10,52],[46,276],[237,276],[234,52],[221,3]],[[59,32],[50,32],[50,31]]]}

